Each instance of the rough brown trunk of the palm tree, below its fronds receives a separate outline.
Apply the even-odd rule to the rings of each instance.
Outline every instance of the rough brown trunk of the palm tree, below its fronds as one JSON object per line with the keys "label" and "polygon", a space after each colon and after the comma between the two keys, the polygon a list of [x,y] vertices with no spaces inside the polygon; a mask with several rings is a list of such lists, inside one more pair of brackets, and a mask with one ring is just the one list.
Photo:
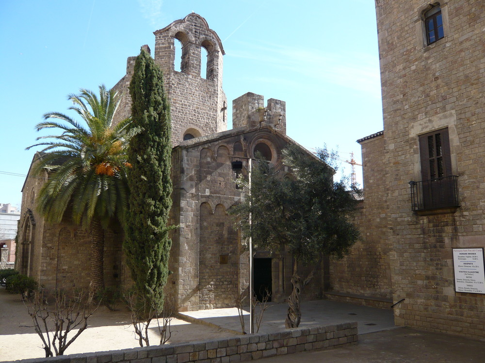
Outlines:
{"label": "rough brown trunk of the palm tree, below its fronds", "polygon": [[98,218],[91,222],[91,296],[104,289],[104,230]]}

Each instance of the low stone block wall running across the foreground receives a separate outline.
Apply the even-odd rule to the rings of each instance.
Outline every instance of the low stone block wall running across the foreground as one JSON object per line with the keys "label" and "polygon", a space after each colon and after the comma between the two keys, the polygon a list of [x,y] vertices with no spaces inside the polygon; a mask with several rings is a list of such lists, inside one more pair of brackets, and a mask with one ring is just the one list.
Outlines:
{"label": "low stone block wall running across the foreground", "polygon": [[25,359],[21,363],[232,363],[357,342],[357,323],[291,329],[228,339],[84,353],[54,358]]}

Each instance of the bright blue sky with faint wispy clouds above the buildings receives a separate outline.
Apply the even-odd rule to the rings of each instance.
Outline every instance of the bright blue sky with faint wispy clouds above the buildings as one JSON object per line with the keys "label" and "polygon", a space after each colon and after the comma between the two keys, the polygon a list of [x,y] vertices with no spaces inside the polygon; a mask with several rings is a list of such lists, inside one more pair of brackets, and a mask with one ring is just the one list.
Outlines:
{"label": "bright blue sky with faint wispy clouds above the buildings", "polygon": [[3,0],[0,202],[20,205],[25,178],[9,174],[27,174],[44,113],[113,87],[153,31],[191,12],[223,42],[229,106],[246,92],[286,101],[288,136],[360,162],[356,139],[383,127],[374,1]]}

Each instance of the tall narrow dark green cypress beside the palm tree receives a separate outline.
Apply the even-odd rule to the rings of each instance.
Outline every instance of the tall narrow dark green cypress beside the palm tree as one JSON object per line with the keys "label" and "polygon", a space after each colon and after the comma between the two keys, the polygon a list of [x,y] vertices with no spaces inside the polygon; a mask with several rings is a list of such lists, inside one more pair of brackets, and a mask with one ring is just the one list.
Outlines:
{"label": "tall narrow dark green cypress beside the palm tree", "polygon": [[[170,107],[162,71],[141,50],[129,85],[132,100],[129,198],[124,251],[139,303],[155,313],[163,307],[172,241],[167,226],[172,206]],[[140,299],[142,301],[140,301]]]}

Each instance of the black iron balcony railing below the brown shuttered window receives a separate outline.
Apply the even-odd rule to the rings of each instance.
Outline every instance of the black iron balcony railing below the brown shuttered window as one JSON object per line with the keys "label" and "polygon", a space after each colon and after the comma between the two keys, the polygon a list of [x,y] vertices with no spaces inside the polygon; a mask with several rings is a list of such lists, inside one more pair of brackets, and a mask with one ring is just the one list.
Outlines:
{"label": "black iron balcony railing below the brown shuttered window", "polygon": [[413,212],[459,207],[458,177],[410,181]]}

